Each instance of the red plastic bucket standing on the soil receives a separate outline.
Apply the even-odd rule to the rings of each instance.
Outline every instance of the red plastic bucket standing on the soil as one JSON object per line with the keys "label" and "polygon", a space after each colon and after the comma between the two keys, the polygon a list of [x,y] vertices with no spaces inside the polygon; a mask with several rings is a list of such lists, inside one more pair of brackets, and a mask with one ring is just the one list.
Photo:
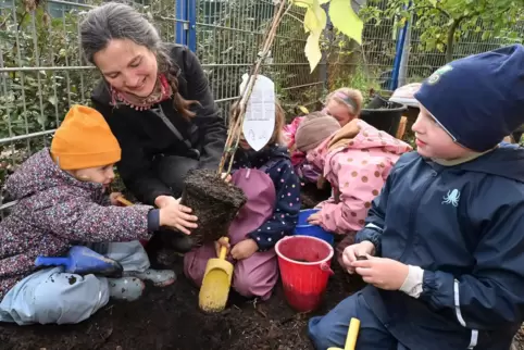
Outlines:
{"label": "red plastic bucket standing on the soil", "polygon": [[288,236],[275,246],[287,302],[299,312],[319,308],[333,275],[333,247],[311,236]]}

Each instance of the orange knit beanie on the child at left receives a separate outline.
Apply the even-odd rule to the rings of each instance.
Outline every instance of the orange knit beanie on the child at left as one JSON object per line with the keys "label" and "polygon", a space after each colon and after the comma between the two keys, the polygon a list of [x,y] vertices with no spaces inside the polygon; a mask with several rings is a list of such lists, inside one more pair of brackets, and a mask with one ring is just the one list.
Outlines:
{"label": "orange knit beanie on the child at left", "polygon": [[62,170],[113,164],[122,150],[103,116],[85,105],[73,105],[54,133],[51,157]]}

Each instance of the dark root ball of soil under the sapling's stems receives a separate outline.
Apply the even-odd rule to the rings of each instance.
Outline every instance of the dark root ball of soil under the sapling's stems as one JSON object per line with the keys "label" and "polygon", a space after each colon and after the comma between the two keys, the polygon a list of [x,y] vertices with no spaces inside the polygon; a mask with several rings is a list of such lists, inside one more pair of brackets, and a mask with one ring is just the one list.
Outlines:
{"label": "dark root ball of soil under the sapling's stems", "polygon": [[238,187],[226,184],[214,171],[194,170],[184,180],[180,203],[192,209],[199,227],[191,237],[197,245],[215,241],[227,235],[227,229],[246,196]]}

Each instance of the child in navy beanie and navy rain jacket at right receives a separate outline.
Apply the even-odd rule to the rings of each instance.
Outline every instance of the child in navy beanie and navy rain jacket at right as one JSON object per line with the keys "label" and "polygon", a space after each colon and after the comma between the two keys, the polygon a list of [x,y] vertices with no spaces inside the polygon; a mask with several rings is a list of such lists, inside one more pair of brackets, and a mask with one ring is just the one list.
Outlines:
{"label": "child in navy beanie and navy rain jacket at right", "polygon": [[[369,284],[309,334],[357,349],[509,349],[524,321],[524,47],[451,62],[415,93],[416,152],[400,158],[344,262]],[[358,259],[365,257],[366,260]]]}

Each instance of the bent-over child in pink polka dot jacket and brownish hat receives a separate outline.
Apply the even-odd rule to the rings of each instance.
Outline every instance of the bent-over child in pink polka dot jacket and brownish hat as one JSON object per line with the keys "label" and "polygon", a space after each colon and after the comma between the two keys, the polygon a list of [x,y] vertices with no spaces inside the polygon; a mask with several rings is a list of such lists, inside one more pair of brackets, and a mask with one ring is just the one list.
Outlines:
{"label": "bent-over child in pink polka dot jacket and brownish hat", "polygon": [[[361,93],[352,96],[362,99]],[[360,105],[361,100],[353,103]],[[315,117],[311,125],[336,125],[332,118]],[[320,142],[316,128],[302,122],[296,141],[307,152],[308,162],[322,172],[319,187],[327,180],[333,188],[332,197],[317,205],[321,211],[311,215],[309,222],[333,233],[348,234],[362,228],[371,201],[378,196],[389,171],[412,148],[358,117],[337,129]]]}

